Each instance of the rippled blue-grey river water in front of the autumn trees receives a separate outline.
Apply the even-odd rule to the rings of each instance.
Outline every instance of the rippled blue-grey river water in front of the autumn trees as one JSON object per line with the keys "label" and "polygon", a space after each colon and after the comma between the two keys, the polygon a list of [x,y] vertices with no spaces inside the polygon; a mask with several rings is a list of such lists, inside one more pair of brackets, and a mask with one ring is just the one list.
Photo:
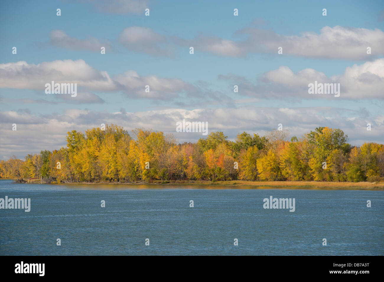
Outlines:
{"label": "rippled blue-grey river water in front of the autumn trees", "polygon": [[[0,209],[0,255],[384,254],[382,190],[0,180],[5,196],[31,200],[29,212]],[[295,211],[263,208],[270,196],[295,198]]]}

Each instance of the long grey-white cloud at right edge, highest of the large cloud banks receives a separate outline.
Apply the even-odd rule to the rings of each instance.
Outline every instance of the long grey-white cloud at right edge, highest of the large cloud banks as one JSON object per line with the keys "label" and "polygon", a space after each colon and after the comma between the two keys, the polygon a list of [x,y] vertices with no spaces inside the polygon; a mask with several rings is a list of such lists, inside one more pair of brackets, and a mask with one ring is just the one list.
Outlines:
{"label": "long grey-white cloud at right edge, highest of the large cloud banks", "polygon": [[[343,26],[324,26],[320,33],[304,32],[300,35],[282,35],[271,30],[247,27],[238,30],[235,36],[242,40],[223,39],[199,34],[193,40],[178,39],[177,43],[196,46],[196,49],[219,56],[242,57],[250,53],[283,54],[326,58],[369,60],[384,55],[384,32],[379,29],[351,28]],[[367,54],[371,47],[372,54]]]}

